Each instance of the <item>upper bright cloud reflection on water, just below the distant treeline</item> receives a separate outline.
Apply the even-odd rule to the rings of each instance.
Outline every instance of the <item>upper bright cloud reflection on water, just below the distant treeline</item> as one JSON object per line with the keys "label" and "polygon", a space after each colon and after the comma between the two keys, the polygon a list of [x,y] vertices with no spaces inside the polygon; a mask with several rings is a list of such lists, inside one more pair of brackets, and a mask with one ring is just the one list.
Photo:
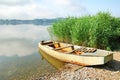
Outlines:
{"label": "upper bright cloud reflection on water, just below the distant treeline", "polygon": [[46,30],[48,26],[35,26],[35,25],[1,25],[0,26],[0,39],[30,39],[39,40],[49,38]]}

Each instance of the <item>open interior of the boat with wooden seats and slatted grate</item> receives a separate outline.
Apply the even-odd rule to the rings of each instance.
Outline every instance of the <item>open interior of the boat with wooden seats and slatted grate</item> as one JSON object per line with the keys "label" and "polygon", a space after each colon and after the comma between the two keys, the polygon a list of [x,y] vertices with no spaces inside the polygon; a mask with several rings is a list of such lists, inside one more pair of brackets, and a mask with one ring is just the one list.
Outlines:
{"label": "open interior of the boat with wooden seats and slatted grate", "polygon": [[96,48],[86,48],[86,47],[76,47],[72,44],[65,44],[65,43],[59,43],[59,42],[53,42],[53,41],[41,41],[42,45],[46,45],[47,47],[50,47],[51,49],[59,52],[64,53],[71,53],[71,54],[83,54],[83,53],[94,53],[97,51]]}

